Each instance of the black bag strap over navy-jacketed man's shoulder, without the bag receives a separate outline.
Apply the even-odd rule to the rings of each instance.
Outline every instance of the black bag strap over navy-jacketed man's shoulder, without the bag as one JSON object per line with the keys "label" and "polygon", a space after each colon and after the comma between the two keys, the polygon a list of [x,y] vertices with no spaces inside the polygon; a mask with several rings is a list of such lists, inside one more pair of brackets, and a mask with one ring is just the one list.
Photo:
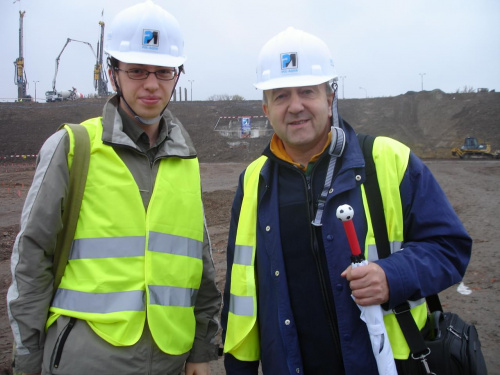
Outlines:
{"label": "black bag strap over navy-jacketed man's shoulder, without the bag", "polygon": [[[379,259],[382,259],[391,254],[391,249],[387,234],[382,194],[378,184],[375,162],[373,161],[373,143],[375,137],[366,134],[358,134],[358,141],[365,158],[366,181],[364,185],[375,235],[375,243],[377,244],[377,253]],[[437,294],[426,297],[426,301],[431,311],[442,311],[441,302]],[[411,315],[409,303],[405,302],[398,305],[393,311],[403,331],[406,342],[408,343],[412,357],[414,359],[425,358],[430,353],[430,349],[425,344],[424,338]]]}

